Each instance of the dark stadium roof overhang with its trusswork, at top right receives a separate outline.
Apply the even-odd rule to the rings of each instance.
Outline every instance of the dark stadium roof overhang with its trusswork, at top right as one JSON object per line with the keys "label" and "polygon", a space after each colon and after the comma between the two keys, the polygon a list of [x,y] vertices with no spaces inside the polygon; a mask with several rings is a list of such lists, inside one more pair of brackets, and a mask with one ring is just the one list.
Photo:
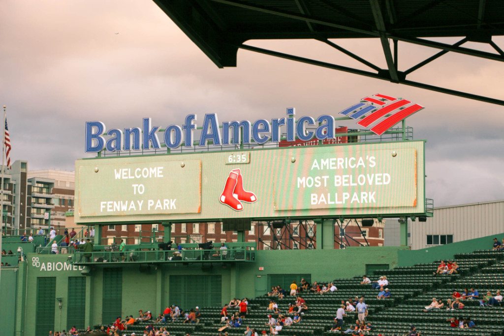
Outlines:
{"label": "dark stadium roof overhang with its trusswork, at top right", "polygon": [[[413,71],[447,52],[504,62],[492,36],[504,35],[501,0],[154,0],[219,68],[235,67],[239,48],[297,62],[504,105],[504,100],[407,79]],[[461,37],[454,44],[429,40]],[[380,39],[387,68],[382,69],[330,39]],[[260,39],[314,39],[327,43],[370,68],[368,71],[298,57],[244,44]],[[393,42],[392,46],[390,41]],[[398,68],[398,43],[437,49],[417,65]],[[489,44],[495,52],[462,46]]]}

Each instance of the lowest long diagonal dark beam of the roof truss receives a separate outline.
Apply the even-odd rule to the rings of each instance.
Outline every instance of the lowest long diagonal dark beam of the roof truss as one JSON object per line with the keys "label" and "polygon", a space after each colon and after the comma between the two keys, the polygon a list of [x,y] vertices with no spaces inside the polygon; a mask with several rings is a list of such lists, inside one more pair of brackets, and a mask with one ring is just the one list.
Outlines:
{"label": "lowest long diagonal dark beam of the roof truss", "polygon": [[[245,44],[238,45],[237,47],[241,48],[241,49],[245,49],[245,50],[256,51],[259,53],[264,53],[267,55],[283,58],[286,60],[316,65],[316,66],[323,67],[323,68],[339,70],[339,71],[344,71],[344,72],[348,72],[348,73],[352,73],[352,74],[356,74],[356,75],[367,76],[367,77],[371,77],[371,78],[390,81],[390,78],[384,76],[383,74],[377,74],[377,73],[373,73],[373,72],[369,72],[369,71],[358,70],[358,69],[353,69],[353,68],[349,68],[349,67],[343,67],[343,66],[339,66],[336,64],[311,60],[311,59],[307,59],[307,58],[303,58],[303,57],[299,57],[299,56],[289,55],[289,54],[283,53],[283,52],[272,51],[272,50],[258,48],[258,47],[245,45]],[[447,94],[451,94],[451,95],[455,95],[455,96],[459,96],[459,97],[463,97],[463,98],[469,98],[469,99],[473,99],[473,100],[479,100],[479,101],[484,101],[484,102],[504,106],[504,100],[499,100],[499,99],[484,97],[484,96],[480,96],[480,95],[476,95],[476,94],[472,94],[472,93],[466,93],[466,92],[441,88],[441,87],[437,87],[437,86],[433,86],[433,85],[429,85],[429,84],[424,84],[424,83],[418,83],[418,82],[409,81],[409,80],[405,80],[405,79],[400,80],[399,83],[409,85],[409,86],[419,87],[419,88],[427,89],[427,90],[431,90],[431,91],[447,93]]]}

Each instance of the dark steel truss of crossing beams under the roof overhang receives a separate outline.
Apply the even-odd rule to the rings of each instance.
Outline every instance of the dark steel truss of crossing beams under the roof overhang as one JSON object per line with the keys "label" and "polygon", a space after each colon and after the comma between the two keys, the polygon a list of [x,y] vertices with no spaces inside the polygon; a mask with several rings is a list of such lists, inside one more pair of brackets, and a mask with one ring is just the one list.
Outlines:
{"label": "dark steel truss of crossing beams under the roof overhang", "polygon": [[[404,84],[408,86],[413,86],[413,87],[418,87],[422,89],[427,89],[431,91],[436,91],[436,92],[441,92],[441,93],[446,93],[446,94],[451,94],[459,97],[464,97],[464,98],[469,98],[473,100],[479,100],[479,101],[484,101],[492,104],[498,104],[498,105],[504,105],[504,100],[501,99],[496,99],[496,98],[490,98],[490,97],[485,97],[481,95],[476,95],[468,92],[463,92],[463,91],[457,91],[457,90],[452,90],[444,87],[439,87],[431,84],[426,84],[426,83],[420,83],[416,81],[411,81],[406,79],[406,77],[411,74],[412,72],[420,69],[421,67],[425,66],[426,64],[440,58],[444,54],[448,52],[456,52],[456,53],[462,53],[466,55],[470,55],[473,57],[477,58],[482,58],[482,59],[487,59],[487,60],[493,60],[493,61],[499,61],[499,62],[504,62],[504,51],[497,45],[495,42],[492,41],[492,36],[486,32],[483,29],[480,29],[483,25],[488,25],[483,21],[483,14],[484,14],[484,8],[485,8],[485,0],[480,0],[479,2],[479,10],[478,10],[478,15],[477,18],[475,18],[475,27],[477,28],[474,30],[474,32],[470,36],[466,36],[460,41],[454,43],[454,44],[448,44],[448,43],[441,43],[441,42],[435,42],[423,38],[415,38],[415,37],[406,37],[406,36],[401,36],[401,25],[400,23],[396,22],[396,17],[395,15],[395,10],[394,10],[394,2],[391,0],[385,0],[386,4],[386,10],[388,12],[388,17],[390,17],[390,22],[385,22],[384,16],[383,16],[383,10],[382,6],[380,6],[379,0],[369,0],[370,5],[371,5],[371,11],[373,14],[374,18],[374,26],[369,26],[369,29],[362,29],[362,28],[355,28],[351,26],[345,26],[341,25],[337,22],[331,22],[326,19],[321,19],[317,17],[313,17],[310,15],[309,10],[305,4],[304,0],[295,0],[296,5],[299,9],[300,13],[295,13],[295,12],[289,12],[289,11],[284,11],[268,6],[259,6],[251,3],[246,3],[242,1],[236,1],[236,0],[211,0],[216,3],[221,3],[229,6],[235,6],[243,9],[248,9],[251,11],[257,11],[261,13],[267,13],[283,18],[289,18],[292,20],[299,20],[299,21],[304,21],[307,25],[307,27],[310,30],[310,34],[306,35],[306,38],[312,38],[321,41],[322,43],[326,43],[333,48],[343,52],[344,54],[348,55],[352,59],[368,66],[371,68],[373,71],[364,71],[360,69],[355,69],[355,68],[350,68],[350,67],[344,67],[340,66],[337,64],[333,63],[327,63],[327,62],[321,62],[317,60],[312,60],[308,58],[303,58],[303,57],[298,57],[296,55],[292,54],[287,54],[283,52],[278,52],[278,51],[273,51],[273,50],[268,50],[264,48],[259,48],[251,45],[246,45],[243,43],[238,43],[238,44],[232,44],[230,47],[235,47],[235,48],[241,48],[244,50],[249,50],[249,51],[255,51],[291,61],[296,61],[296,62],[301,62],[301,63],[306,63],[306,64],[311,64],[311,65],[316,65],[328,69],[333,69],[333,70],[339,70],[339,71],[344,71],[356,75],[361,75],[361,76],[367,76],[371,78],[376,78],[376,79],[381,79],[381,80],[386,80],[390,81],[392,83],[398,83],[398,84]],[[415,13],[412,13],[408,20],[420,15],[421,13],[424,13],[425,11],[437,6],[438,4],[442,3],[440,0],[433,0],[423,8],[420,8],[417,10]],[[328,6],[334,7],[334,5],[327,3]],[[334,10],[340,12],[340,13],[345,13],[345,9],[343,8],[334,8]],[[352,17],[351,13],[345,13],[347,16]],[[358,18],[354,18],[356,21],[358,21]],[[360,22],[362,23],[362,22]],[[395,25],[393,31],[388,30],[388,24],[390,25]],[[345,48],[339,46],[338,44],[334,43],[333,41],[330,41],[326,37],[324,37],[324,33],[322,31],[317,30],[317,26],[327,26],[327,27],[332,27],[332,28],[338,28],[346,31],[352,31],[352,32],[357,32],[361,34],[365,34],[369,37],[376,37],[380,38],[381,44],[382,44],[382,49],[384,52],[385,60],[387,62],[387,69],[382,69],[371,62],[368,62],[364,60],[363,58],[359,57],[358,55],[350,52],[349,50],[346,50]],[[237,33],[237,36],[239,36],[239,33]],[[264,38],[268,38],[267,33],[265,34]],[[389,40],[392,40],[393,42],[393,49],[390,47]],[[402,42],[407,42],[407,43],[412,43],[412,44],[417,44],[417,45],[422,45],[430,48],[435,48],[435,49],[440,49],[441,51],[437,52],[436,54],[432,55],[431,57],[427,58],[426,60],[418,63],[417,65],[406,69],[406,70],[399,70],[398,67],[398,48],[399,48],[399,41]],[[472,42],[480,42],[480,43],[486,43],[489,44],[493,49],[496,50],[497,53],[491,53],[491,52],[486,52],[486,51],[481,51],[481,50],[476,50],[472,48],[467,48],[461,46],[465,42],[472,41]]]}

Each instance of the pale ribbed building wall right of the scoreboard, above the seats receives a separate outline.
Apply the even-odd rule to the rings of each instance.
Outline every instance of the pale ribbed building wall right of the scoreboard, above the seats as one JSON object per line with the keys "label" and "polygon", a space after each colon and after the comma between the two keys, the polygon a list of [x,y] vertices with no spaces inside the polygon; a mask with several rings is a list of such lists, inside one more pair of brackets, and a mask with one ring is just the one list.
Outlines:
{"label": "pale ribbed building wall right of the scoreboard, above the seats", "polygon": [[426,222],[411,226],[411,249],[428,247],[427,235],[453,235],[454,242],[495,235],[504,231],[504,200],[434,209]]}

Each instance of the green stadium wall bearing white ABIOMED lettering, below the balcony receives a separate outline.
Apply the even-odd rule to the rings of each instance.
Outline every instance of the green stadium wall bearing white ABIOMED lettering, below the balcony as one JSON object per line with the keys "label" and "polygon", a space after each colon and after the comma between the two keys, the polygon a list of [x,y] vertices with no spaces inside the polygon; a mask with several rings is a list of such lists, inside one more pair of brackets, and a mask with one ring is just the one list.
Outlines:
{"label": "green stadium wall bearing white ABIOMED lettering, below the balcony", "polygon": [[[265,294],[270,285],[270,276],[274,279],[272,281],[277,281],[282,274],[302,274],[309,276],[311,281],[332,281],[335,278],[362,275],[366,264],[382,264],[393,268],[398,265],[400,250],[398,247],[271,250],[257,251],[255,262],[228,263],[225,266],[215,263],[211,268],[209,264],[186,266],[168,263],[157,266],[99,265],[92,269],[67,264],[65,254],[29,253],[27,262],[21,264],[16,272],[17,280],[12,276],[4,278],[4,272],[2,273],[2,293],[15,289],[9,292],[9,295],[15,298],[12,302],[16,303],[16,309],[14,306],[5,308],[11,311],[6,315],[7,319],[16,321],[14,333],[9,331],[5,334],[45,336],[48,330],[40,326],[36,328],[37,323],[51,325],[50,330],[68,330],[73,324],[67,324],[67,320],[68,323],[83,321],[83,324],[77,327],[107,324],[112,322],[112,316],[136,316],[139,309],[158,314],[167,304],[180,304],[177,301],[187,305],[182,308],[221,305],[233,297]],[[260,267],[263,270],[259,270]],[[39,279],[44,277],[52,277],[54,280]],[[76,277],[84,280],[78,280]],[[284,278],[285,281],[290,281],[290,275]],[[296,278],[298,279],[299,277]],[[85,286],[85,293],[69,289],[69,283],[82,284]],[[55,291],[51,287],[53,284]],[[69,297],[69,294],[74,297]],[[37,303],[37,297],[44,298],[43,305]],[[57,298],[62,300],[61,309]],[[78,302],[83,301],[83,298],[84,304],[79,305]],[[84,319],[73,314],[73,309],[83,311]],[[106,320],[103,320],[104,316]],[[40,318],[44,321],[40,321]],[[10,322],[5,323],[1,323],[2,327],[6,325],[9,326],[8,330],[13,329]]]}

